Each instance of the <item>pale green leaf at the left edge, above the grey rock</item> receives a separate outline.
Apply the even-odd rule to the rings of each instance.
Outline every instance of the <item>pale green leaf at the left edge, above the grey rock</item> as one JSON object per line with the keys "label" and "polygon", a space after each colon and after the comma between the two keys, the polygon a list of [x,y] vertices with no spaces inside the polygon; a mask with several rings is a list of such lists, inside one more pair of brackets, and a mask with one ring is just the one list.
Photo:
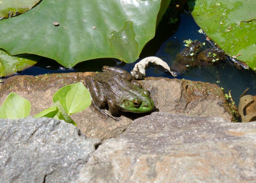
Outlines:
{"label": "pale green leaf at the left edge, above the grey rock", "polygon": [[0,118],[17,119],[29,116],[31,104],[27,99],[11,92],[0,107]]}

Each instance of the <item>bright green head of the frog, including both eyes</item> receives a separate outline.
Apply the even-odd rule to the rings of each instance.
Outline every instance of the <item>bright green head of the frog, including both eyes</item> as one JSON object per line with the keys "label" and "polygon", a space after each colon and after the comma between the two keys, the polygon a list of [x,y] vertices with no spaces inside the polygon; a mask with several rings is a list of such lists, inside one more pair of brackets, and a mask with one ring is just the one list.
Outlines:
{"label": "bright green head of the frog, including both eyes", "polygon": [[124,99],[123,103],[119,105],[124,111],[133,113],[146,113],[154,109],[154,102],[151,99],[147,90],[142,90],[140,95]]}

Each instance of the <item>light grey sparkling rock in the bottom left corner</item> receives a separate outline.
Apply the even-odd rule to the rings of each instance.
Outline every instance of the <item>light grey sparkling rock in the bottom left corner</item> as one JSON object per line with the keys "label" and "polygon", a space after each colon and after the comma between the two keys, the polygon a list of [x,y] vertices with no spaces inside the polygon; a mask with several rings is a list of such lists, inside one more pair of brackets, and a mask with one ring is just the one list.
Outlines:
{"label": "light grey sparkling rock in the bottom left corner", "polygon": [[74,182],[100,144],[52,118],[0,119],[0,182]]}

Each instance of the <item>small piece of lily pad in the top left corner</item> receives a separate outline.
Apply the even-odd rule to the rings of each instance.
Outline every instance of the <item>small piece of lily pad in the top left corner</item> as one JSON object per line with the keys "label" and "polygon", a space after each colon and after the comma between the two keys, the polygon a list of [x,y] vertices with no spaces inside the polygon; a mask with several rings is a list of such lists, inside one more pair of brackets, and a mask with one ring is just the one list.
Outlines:
{"label": "small piece of lily pad in the top left corner", "polygon": [[40,0],[2,0],[0,1],[0,19],[25,13]]}

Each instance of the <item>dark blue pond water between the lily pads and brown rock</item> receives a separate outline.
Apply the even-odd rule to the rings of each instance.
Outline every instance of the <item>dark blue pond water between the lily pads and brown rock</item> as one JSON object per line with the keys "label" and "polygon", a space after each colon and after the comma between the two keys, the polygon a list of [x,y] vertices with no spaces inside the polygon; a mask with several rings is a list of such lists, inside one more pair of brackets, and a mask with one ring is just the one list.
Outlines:
{"label": "dark blue pond water between the lily pads and brown rock", "polygon": [[[101,68],[104,65],[120,67],[130,72],[139,60],[148,56],[159,57],[166,61],[171,67],[176,55],[185,48],[183,43],[184,40],[199,40],[202,43],[206,43],[205,48],[210,47],[210,45],[205,41],[205,36],[198,32],[199,29],[200,28],[196,25],[191,16],[182,14],[180,15],[180,20],[174,25],[161,22],[156,30],[155,38],[148,42],[141,52],[140,58],[132,64],[121,63],[115,59],[95,59],[79,63],[74,68],[65,69],[61,68],[57,62],[53,62],[50,59],[44,59],[35,66],[28,68],[19,74],[39,75],[56,72],[101,71]],[[171,74],[161,72],[156,68],[148,68],[146,75],[173,78]],[[225,93],[228,93],[228,91],[231,90],[231,95],[233,100],[236,102],[236,105],[238,105],[239,97],[246,87],[250,88],[247,94],[256,95],[255,72],[237,69],[228,62],[203,68],[193,68],[183,76],[177,76],[176,78],[216,83],[220,87],[224,88]]]}

